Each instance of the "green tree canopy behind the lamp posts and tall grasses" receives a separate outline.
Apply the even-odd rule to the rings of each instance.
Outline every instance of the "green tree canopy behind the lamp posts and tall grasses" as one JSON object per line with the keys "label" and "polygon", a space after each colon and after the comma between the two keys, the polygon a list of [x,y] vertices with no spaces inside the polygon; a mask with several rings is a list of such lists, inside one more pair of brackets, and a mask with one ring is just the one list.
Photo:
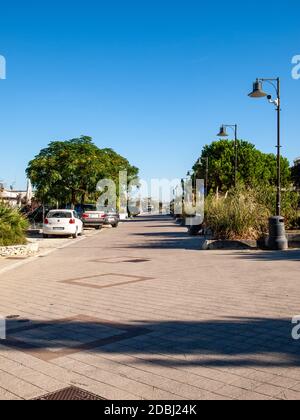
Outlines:
{"label": "green tree canopy behind the lamp posts and tall grasses", "polygon": [[[203,148],[201,157],[194,166],[198,178],[205,178],[206,158],[209,160],[209,189],[229,190],[234,186],[235,147],[234,141],[219,140]],[[291,171],[289,161],[281,159],[282,186],[289,186]],[[277,158],[265,154],[247,141],[238,141],[239,183],[249,187],[276,185]]]}

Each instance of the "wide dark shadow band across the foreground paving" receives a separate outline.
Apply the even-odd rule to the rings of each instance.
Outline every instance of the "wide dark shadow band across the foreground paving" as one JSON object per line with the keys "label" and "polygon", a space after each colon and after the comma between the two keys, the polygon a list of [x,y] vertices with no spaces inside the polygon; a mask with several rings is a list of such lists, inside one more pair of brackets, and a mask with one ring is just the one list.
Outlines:
{"label": "wide dark shadow band across the foreground paving", "polygon": [[[131,354],[169,366],[300,367],[291,320],[225,318],[114,324],[102,320],[7,320],[1,345],[43,360],[90,351]],[[139,355],[142,354],[142,358]],[[166,357],[167,356],[167,357]]]}

